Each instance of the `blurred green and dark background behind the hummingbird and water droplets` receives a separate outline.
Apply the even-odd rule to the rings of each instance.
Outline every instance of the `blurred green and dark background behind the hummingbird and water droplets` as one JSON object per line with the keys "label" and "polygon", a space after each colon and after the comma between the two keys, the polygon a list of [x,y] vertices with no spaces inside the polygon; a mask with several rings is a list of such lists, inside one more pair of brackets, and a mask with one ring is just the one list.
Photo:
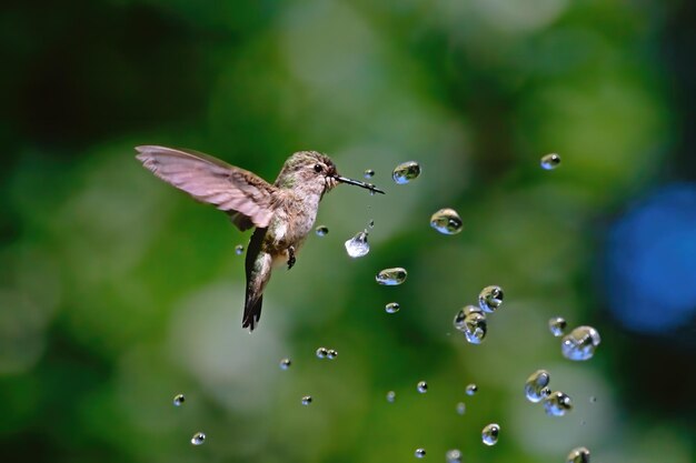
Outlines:
{"label": "blurred green and dark background behind the hummingbird and water droplets", "polygon": [[[696,177],[695,23],[687,1],[6,3],[0,461],[408,462],[424,447],[538,463],[578,445],[603,463],[696,461],[696,232],[632,266],[696,220],[625,219]],[[324,199],[329,234],[276,270],[249,335],[235,253],[249,234],[143,170],[137,144],[269,181],[318,150],[344,175],[374,169],[387,194]],[[422,174],[396,185],[408,160]],[[463,233],[430,229],[445,207]],[[351,260],[344,241],[370,219],[372,251]],[[407,282],[377,285],[387,266]],[[506,300],[471,345],[451,320],[489,284]],[[647,286],[659,296],[635,321]],[[593,360],[560,355],[554,315],[599,330]],[[318,360],[322,345],[339,356]],[[524,399],[541,368],[569,415]]]}

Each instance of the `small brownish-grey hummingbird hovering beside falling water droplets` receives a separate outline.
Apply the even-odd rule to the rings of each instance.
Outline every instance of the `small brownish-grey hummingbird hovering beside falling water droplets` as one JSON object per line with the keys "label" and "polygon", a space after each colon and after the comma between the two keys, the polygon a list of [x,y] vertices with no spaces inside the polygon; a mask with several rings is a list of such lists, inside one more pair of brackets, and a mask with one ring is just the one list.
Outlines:
{"label": "small brownish-grey hummingbird hovering beside falling water droplets", "polygon": [[261,316],[264,290],[272,268],[295,265],[296,254],[311,231],[319,201],[339,183],[381,193],[371,183],[341,177],[326,154],[299,151],[290,155],[274,184],[217,158],[186,149],[136,147],[136,158],[165,182],[193,199],[226,212],[241,231],[256,228],[247,246],[247,288],[241,326],[253,331]]}

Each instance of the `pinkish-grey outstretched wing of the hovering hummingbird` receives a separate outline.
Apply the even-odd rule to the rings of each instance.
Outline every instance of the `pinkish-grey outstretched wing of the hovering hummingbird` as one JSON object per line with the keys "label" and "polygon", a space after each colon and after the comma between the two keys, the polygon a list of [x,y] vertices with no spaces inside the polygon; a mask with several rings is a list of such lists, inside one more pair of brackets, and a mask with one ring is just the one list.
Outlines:
{"label": "pinkish-grey outstretched wing of the hovering hummingbird", "polygon": [[276,187],[260,177],[196,151],[155,145],[136,151],[155,175],[226,211],[239,230],[268,227]]}

